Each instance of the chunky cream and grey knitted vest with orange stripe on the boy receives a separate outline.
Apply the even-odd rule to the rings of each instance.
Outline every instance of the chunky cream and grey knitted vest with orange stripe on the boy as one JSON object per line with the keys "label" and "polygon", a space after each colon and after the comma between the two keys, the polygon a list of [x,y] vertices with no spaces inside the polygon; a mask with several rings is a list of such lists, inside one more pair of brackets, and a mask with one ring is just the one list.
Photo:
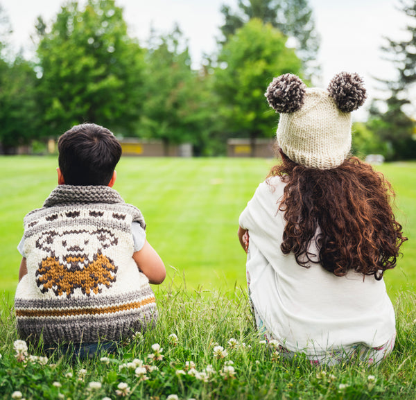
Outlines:
{"label": "chunky cream and grey knitted vest with orange stripe on the boy", "polygon": [[120,340],[155,324],[155,295],[132,259],[132,221],[146,228],[108,186],[57,186],[25,216],[28,273],[15,295],[22,338]]}

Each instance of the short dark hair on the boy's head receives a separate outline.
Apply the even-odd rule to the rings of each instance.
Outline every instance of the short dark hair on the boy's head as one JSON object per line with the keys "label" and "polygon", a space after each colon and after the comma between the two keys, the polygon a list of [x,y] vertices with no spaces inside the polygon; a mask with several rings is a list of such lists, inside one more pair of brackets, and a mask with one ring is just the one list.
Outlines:
{"label": "short dark hair on the boy's head", "polygon": [[107,186],[121,157],[121,145],[107,128],[83,123],[58,140],[59,168],[65,184]]}

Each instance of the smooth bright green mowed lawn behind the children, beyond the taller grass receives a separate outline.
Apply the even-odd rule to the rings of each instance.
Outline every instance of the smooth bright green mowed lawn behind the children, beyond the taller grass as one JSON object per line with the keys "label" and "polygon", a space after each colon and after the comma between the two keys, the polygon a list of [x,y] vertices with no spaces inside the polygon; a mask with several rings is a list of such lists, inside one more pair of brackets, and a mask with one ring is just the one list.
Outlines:
{"label": "smooth bright green mowed lawn behind the children, beyond the taller grass", "polygon": [[[232,290],[245,286],[245,253],[236,236],[239,214],[273,160],[122,157],[114,189],[141,209],[147,237],[168,270],[163,286]],[[58,157],[0,157],[0,291],[12,302],[21,256],[23,217],[42,207],[57,182]],[[395,214],[409,241],[386,272],[393,297],[416,288],[416,162],[376,167],[392,182]]]}

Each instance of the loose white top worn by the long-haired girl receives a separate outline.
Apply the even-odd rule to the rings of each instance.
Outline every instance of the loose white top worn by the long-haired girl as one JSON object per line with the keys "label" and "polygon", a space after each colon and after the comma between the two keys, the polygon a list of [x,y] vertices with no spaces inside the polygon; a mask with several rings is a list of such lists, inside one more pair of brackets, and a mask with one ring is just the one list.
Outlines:
{"label": "loose white top worn by the long-haired girl", "polygon": [[[287,349],[306,354],[383,345],[395,334],[384,281],[354,271],[336,277],[320,264],[304,268],[292,253],[283,254],[286,221],[278,208],[285,184],[279,177],[268,183],[259,185],[239,220],[250,234],[250,295],[266,329]],[[318,254],[314,245],[309,250]]]}

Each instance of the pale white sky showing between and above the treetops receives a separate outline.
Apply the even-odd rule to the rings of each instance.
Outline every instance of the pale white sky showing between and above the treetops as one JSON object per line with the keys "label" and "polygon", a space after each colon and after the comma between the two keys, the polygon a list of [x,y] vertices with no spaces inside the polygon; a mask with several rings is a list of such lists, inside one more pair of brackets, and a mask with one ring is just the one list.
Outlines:
{"label": "pale white sky showing between and above the treetops", "polygon": [[[80,0],[84,3],[85,0]],[[0,0],[12,26],[12,44],[30,49],[30,35],[35,32],[37,16],[51,21],[60,10],[61,0]],[[169,33],[178,24],[189,40],[193,66],[198,67],[203,53],[216,51],[216,38],[223,24],[220,8],[223,4],[236,8],[237,0],[116,0],[124,9],[130,35],[146,45],[150,26],[158,33]],[[315,28],[321,44],[318,61],[322,77],[314,85],[327,87],[340,71],[359,73],[367,87],[369,100],[356,114],[356,120],[366,117],[371,98],[383,97],[375,78],[392,80],[395,69],[383,60],[380,47],[383,37],[406,38],[406,19],[398,10],[399,0],[309,0]],[[416,118],[416,98],[406,110]]]}

